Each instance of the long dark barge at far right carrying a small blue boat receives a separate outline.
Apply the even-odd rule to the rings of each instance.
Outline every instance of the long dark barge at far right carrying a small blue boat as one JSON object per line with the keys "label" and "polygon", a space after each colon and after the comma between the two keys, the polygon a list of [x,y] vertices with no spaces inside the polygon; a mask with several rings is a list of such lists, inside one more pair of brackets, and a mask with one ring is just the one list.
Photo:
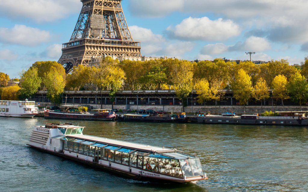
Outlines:
{"label": "long dark barge at far right carrying a small blue boat", "polygon": [[243,124],[243,125],[287,125],[306,126],[308,125],[307,111],[297,112],[276,112],[281,116],[222,116],[222,115],[202,115],[197,116],[198,123],[207,124]]}

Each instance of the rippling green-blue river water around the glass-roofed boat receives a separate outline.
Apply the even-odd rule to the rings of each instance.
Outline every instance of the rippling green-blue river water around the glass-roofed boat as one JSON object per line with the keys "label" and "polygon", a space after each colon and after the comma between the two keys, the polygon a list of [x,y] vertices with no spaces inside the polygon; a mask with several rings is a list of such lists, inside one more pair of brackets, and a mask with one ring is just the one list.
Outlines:
{"label": "rippling green-blue river water around the glass-roofed boat", "polygon": [[[176,148],[201,159],[208,180],[123,178],[27,147],[44,118],[0,118],[0,191],[308,191],[307,127],[70,121],[84,134]],[[63,123],[63,122],[61,122]]]}

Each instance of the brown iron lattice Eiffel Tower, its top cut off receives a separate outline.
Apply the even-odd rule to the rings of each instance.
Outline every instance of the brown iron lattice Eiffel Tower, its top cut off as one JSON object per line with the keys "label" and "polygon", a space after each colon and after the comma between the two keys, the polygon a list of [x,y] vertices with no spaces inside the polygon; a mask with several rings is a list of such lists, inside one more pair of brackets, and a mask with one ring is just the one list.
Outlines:
{"label": "brown iron lattice Eiffel Tower, its top cut off", "polygon": [[141,57],[140,42],[133,40],[121,6],[122,0],[81,0],[78,22],[58,63],[68,73],[103,55]]}

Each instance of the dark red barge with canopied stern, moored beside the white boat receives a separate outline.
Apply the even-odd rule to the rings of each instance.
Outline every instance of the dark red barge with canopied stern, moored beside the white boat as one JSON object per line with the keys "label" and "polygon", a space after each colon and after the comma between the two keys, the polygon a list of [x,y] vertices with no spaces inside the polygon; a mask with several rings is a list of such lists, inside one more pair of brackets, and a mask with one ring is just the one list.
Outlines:
{"label": "dark red barge with canopied stern, moored beside the white boat", "polygon": [[[73,106],[74,107],[74,106]],[[77,106],[78,107],[78,106]],[[115,112],[111,109],[95,109],[96,113],[87,112],[59,112],[59,111],[45,111],[45,118],[55,119],[78,119],[78,120],[115,120]]]}

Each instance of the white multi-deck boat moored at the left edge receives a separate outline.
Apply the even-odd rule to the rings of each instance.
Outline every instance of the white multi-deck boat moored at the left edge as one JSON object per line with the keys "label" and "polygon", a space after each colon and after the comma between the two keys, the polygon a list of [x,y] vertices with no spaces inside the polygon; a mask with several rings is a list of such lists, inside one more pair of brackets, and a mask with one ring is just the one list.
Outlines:
{"label": "white multi-deck boat moored at the left edge", "polygon": [[2,117],[28,117],[39,114],[39,108],[34,101],[0,101],[0,116]]}

